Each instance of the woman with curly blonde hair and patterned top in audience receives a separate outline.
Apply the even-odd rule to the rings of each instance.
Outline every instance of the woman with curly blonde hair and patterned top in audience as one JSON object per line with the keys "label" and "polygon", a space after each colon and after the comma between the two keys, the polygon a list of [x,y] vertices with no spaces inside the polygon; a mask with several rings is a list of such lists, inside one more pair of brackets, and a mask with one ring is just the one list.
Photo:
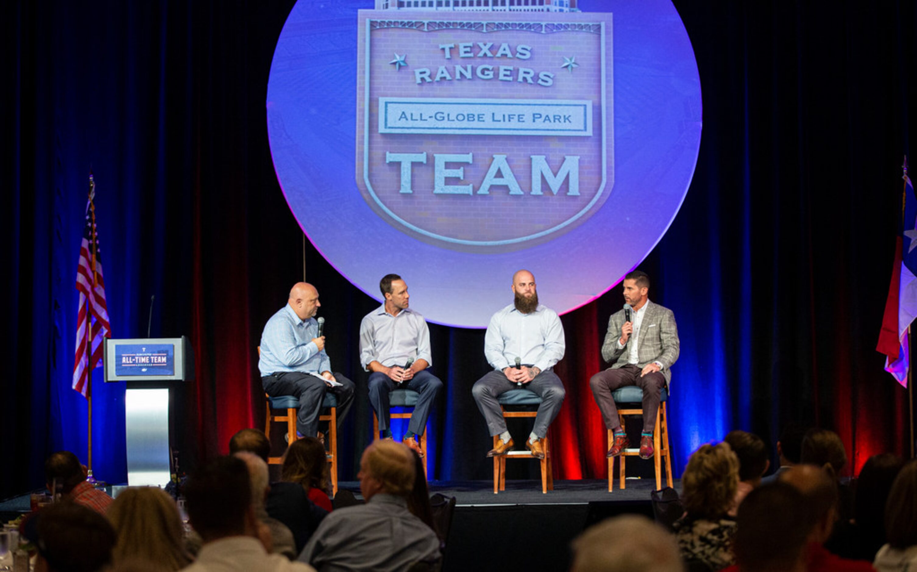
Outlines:
{"label": "woman with curly blonde hair and patterned top in audience", "polygon": [[703,445],[681,476],[685,514],[674,524],[690,570],[720,570],[735,561],[735,519],[729,509],[739,484],[739,461],[726,443]]}

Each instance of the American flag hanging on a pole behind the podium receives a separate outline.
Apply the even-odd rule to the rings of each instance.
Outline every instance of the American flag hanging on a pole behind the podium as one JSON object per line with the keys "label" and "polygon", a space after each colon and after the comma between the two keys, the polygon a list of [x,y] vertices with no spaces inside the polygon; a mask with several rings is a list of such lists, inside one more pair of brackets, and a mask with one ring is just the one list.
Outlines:
{"label": "American flag hanging on a pole behind the podium", "polygon": [[[80,292],[80,314],[77,315],[76,358],[73,361],[73,389],[86,397],[93,369],[102,359],[103,338],[111,337],[108,310],[105,307],[105,279],[99,258],[99,235],[95,227],[95,181],[89,175],[89,200],[86,202],[86,225],[80,245],[76,270],[76,290]],[[87,348],[92,347],[87,352]],[[87,355],[88,354],[88,355]]]}

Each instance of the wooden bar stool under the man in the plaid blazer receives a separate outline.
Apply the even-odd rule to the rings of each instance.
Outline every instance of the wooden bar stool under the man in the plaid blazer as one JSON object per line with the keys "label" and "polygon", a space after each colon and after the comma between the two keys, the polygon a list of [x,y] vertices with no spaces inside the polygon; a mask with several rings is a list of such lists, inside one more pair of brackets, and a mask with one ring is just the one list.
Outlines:
{"label": "wooden bar stool under the man in the plaid blazer", "polygon": [[[640,415],[643,416],[643,390],[636,386],[627,386],[619,390],[612,391],[612,398],[614,404],[618,406],[618,416],[621,419],[621,428],[626,430],[624,427],[624,415]],[[656,468],[656,490],[662,489],[662,459],[665,457],[666,460],[666,482],[668,486],[672,486],[672,455],[671,449],[668,446],[668,408],[666,404],[668,402],[668,388],[662,390],[662,395],[659,400],[659,412],[656,415],[656,426],[653,429],[653,466]],[[621,404],[626,403],[627,406],[622,407]],[[614,435],[612,431],[608,432],[608,448],[612,448],[614,443]],[[627,448],[619,456],[618,460],[618,469],[620,470],[618,480],[620,481],[621,489],[624,489],[624,457],[639,457],[640,447],[639,444],[634,448]],[[608,458],[608,491],[613,490],[613,480],[614,480],[614,457]]]}

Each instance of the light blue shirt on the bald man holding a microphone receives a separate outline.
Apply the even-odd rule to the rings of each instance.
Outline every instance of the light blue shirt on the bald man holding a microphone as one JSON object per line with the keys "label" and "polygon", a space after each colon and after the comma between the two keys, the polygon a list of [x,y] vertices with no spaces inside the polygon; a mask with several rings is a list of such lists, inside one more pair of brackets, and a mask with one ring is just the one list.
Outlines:
{"label": "light blue shirt on the bald man holding a microphone", "polygon": [[312,338],[318,334],[315,318],[300,320],[290,304],[271,316],[261,333],[261,376],[278,371],[321,373],[331,371],[331,360],[325,350],[318,351]]}

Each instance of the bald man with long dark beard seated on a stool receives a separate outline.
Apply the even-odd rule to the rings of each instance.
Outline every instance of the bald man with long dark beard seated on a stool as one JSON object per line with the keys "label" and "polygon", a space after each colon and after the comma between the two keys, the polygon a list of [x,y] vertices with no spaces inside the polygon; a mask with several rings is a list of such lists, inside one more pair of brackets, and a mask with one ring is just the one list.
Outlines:
{"label": "bald man with long dark beard seated on a stool", "polygon": [[493,371],[476,381],[471,393],[487,421],[491,435],[500,435],[488,457],[504,455],[514,446],[497,399],[506,391],[522,387],[542,399],[535,426],[525,447],[545,457],[541,439],[564,402],[564,385],[554,364],[564,357],[564,327],[558,313],[538,303],[535,276],[528,270],[513,275],[514,303],[493,314],[484,336],[484,356]]}

